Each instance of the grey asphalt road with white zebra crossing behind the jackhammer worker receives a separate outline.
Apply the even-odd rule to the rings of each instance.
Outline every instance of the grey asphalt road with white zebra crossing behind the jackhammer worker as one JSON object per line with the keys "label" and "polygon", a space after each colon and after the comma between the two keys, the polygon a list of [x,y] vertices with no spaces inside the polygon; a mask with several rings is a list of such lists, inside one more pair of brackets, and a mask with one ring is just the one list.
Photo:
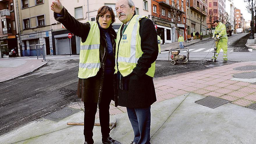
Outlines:
{"label": "grey asphalt road with white zebra crossing behind the jackhammer worker", "polygon": [[[234,52],[234,46],[232,45],[236,40],[241,39],[248,33],[240,33],[240,34],[233,34],[231,37],[228,37],[228,49],[227,49],[227,56],[229,61],[256,61],[256,50],[249,49],[249,52]],[[209,39],[206,41],[198,42],[194,45],[189,47],[190,60],[205,60],[210,59],[213,56],[213,49],[214,49],[214,40]],[[184,55],[186,53],[184,52]],[[208,54],[208,55],[207,55]],[[223,56],[223,51],[218,56],[218,60],[221,61]],[[158,55],[158,60],[168,60],[168,51],[164,51]]]}

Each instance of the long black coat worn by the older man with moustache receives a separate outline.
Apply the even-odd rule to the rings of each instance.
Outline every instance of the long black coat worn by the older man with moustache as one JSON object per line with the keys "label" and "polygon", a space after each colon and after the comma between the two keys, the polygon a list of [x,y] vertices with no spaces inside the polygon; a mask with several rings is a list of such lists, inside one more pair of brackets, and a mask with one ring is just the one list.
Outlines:
{"label": "long black coat worn by the older man with moustache", "polygon": [[[157,32],[150,19],[140,20],[139,34],[141,36],[142,56],[138,59],[133,72],[126,76],[128,79],[128,90],[120,90],[115,86],[118,102],[115,104],[125,107],[148,107],[157,101],[153,78],[146,75],[151,64],[158,56]],[[122,29],[123,29],[122,25]],[[122,36],[120,36],[122,38]],[[117,44],[118,46],[118,44]],[[116,48],[118,49],[118,47]],[[121,49],[121,47],[120,47]],[[115,83],[117,85],[117,83]],[[118,90],[117,90],[118,89]]]}

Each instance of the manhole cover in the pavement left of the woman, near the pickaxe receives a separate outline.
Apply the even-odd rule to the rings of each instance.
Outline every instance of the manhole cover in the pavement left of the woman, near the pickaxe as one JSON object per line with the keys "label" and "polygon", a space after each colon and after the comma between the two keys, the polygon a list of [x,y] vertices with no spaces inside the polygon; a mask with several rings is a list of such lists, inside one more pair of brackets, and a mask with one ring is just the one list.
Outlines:
{"label": "manhole cover in the pavement left of the woman, near the pickaxe", "polygon": [[65,107],[61,110],[55,111],[49,115],[44,116],[44,118],[48,119],[48,120],[54,120],[54,121],[59,121],[62,120],[74,113],[79,112],[80,110],[78,109],[72,109],[69,107]]}

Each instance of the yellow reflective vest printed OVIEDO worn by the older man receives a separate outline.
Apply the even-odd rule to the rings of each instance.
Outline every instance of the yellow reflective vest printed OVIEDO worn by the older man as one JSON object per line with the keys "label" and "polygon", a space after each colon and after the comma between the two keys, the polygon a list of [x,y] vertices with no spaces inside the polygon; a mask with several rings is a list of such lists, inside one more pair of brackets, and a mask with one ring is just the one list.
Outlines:
{"label": "yellow reflective vest printed OVIEDO worn by the older man", "polygon": [[[119,71],[123,77],[131,74],[138,63],[138,59],[143,54],[141,50],[141,36],[139,34],[139,20],[144,17],[146,16],[134,15],[125,29],[122,38],[120,38],[122,26],[120,26],[118,30],[118,44],[115,54],[115,73]],[[151,67],[148,69],[146,74],[150,77],[154,77],[155,69],[156,62],[151,64]]]}

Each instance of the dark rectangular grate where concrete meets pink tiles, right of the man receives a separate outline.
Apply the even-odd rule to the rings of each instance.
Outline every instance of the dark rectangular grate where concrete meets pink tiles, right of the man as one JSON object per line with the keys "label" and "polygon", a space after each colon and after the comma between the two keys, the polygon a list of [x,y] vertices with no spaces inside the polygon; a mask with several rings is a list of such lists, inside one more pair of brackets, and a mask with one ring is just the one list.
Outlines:
{"label": "dark rectangular grate where concrete meets pink tiles, right of the man", "polygon": [[225,100],[225,99],[220,99],[217,97],[213,97],[213,96],[208,96],[203,99],[200,99],[199,101],[196,101],[195,103],[215,109],[216,107],[219,107],[228,102],[230,102],[230,101]]}

